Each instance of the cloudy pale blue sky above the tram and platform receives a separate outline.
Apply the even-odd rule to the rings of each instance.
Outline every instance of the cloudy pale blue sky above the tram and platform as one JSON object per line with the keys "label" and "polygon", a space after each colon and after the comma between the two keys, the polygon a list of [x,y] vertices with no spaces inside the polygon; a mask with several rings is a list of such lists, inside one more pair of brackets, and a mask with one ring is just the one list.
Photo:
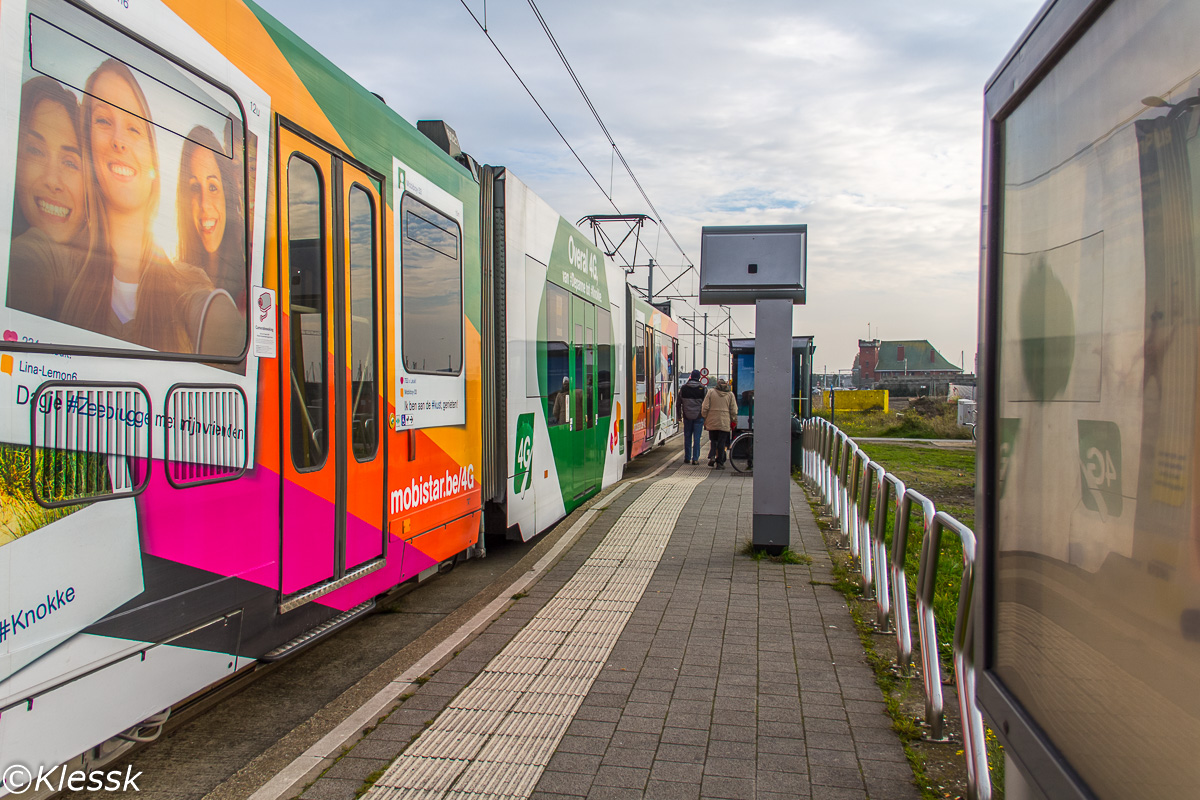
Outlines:
{"label": "cloudy pale blue sky above the tram and platform", "polygon": [[604,128],[529,0],[341,0],[336,13],[259,0],[401,116],[445,120],[568,219],[661,221],[643,228],[630,281],[644,288],[653,258],[658,296],[684,272],[666,291],[686,296],[674,315],[707,312],[722,333],[706,359],[682,321],[684,369],[726,372],[724,332],[754,331],[752,307],[698,305],[701,229],[803,223],[793,332],[815,337],[815,371],[848,371],[868,337],[929,339],[974,371],[983,91],[1042,0],[534,2]]}

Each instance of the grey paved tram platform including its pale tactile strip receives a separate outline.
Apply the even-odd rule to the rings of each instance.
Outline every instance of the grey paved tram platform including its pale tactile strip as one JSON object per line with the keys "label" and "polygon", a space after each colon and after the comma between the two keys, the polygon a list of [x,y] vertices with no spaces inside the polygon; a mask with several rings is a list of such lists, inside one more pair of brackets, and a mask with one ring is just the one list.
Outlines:
{"label": "grey paved tram platform including its pale tactile strip", "polygon": [[792,549],[811,564],[784,565],[744,552],[749,476],[684,465],[679,439],[630,473],[482,632],[281,796],[919,798],[800,487]]}

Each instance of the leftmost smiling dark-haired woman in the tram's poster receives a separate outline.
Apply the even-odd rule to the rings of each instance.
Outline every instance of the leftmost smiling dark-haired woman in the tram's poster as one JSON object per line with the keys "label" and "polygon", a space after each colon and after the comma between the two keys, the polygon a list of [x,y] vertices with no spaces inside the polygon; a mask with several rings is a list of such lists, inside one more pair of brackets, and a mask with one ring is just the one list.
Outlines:
{"label": "leftmost smiling dark-haired woman in the tram's poster", "polygon": [[53,78],[20,90],[10,308],[58,318],[88,248],[79,102]]}

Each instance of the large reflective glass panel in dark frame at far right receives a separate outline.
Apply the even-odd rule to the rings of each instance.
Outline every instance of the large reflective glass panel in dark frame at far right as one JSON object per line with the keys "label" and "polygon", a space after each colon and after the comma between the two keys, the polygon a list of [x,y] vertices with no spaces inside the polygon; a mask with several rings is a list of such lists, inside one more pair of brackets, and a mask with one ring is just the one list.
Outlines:
{"label": "large reflective glass panel in dark frame at far right", "polygon": [[995,669],[1104,800],[1200,786],[1200,5],[1133,5],[1001,137]]}

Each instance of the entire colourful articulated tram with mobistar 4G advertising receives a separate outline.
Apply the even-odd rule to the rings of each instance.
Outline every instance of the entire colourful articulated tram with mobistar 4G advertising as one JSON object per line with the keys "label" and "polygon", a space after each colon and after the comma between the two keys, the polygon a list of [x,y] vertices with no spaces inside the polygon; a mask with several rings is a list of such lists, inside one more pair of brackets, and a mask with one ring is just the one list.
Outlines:
{"label": "entire colourful articulated tram with mobistar 4G advertising", "polygon": [[257,6],[0,36],[0,768],[102,764],[673,429],[672,320]]}

